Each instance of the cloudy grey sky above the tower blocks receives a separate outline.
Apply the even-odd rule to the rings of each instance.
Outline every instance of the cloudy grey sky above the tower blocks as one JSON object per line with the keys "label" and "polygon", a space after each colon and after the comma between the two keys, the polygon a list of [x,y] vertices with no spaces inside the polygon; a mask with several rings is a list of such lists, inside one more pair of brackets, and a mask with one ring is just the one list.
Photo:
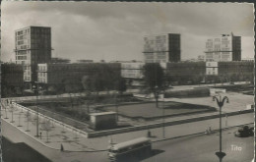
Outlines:
{"label": "cloudy grey sky above the tower blocks", "polygon": [[15,30],[51,27],[52,57],[143,61],[144,36],[181,34],[181,59],[204,55],[208,38],[241,36],[254,57],[253,4],[160,2],[24,2],[1,4],[1,60],[15,60]]}

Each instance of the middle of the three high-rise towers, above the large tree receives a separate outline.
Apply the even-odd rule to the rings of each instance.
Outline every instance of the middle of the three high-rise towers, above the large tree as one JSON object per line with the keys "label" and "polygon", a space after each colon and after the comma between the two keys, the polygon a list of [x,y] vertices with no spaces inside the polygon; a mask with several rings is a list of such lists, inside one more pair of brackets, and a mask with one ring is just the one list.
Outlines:
{"label": "middle of the three high-rise towers, above the large tree", "polygon": [[180,34],[167,33],[144,37],[143,53],[146,63],[179,62]]}

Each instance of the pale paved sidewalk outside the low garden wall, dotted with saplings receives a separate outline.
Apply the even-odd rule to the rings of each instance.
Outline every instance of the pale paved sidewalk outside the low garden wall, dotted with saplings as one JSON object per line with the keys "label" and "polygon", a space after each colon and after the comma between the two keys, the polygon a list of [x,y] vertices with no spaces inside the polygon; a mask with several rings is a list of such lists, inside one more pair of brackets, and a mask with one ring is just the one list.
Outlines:
{"label": "pale paved sidewalk outside the low garden wall, dotted with saplings", "polygon": [[[33,140],[51,149],[60,149],[60,145],[62,144],[66,151],[94,152],[107,149],[110,140],[112,140],[114,143],[117,143],[133,139],[139,136],[146,136],[148,133],[148,131],[145,130],[118,135],[106,135],[96,138],[87,138],[87,133],[79,132],[75,128],[58,123],[58,121],[54,121],[53,119],[50,119],[39,114],[39,133],[41,133],[41,137],[35,137],[35,113],[31,111],[31,117],[28,122],[28,117],[26,116],[26,114],[28,114],[27,109],[24,109],[19,106],[13,106],[15,108],[11,109],[11,106],[9,105],[2,105],[2,107],[3,108],[1,109],[1,114],[3,121],[8,123],[9,126],[18,129],[21,133],[31,136]],[[13,110],[13,112],[10,110]],[[8,119],[5,119],[6,116],[8,117]],[[180,119],[181,118],[184,117],[180,117]],[[247,113],[227,118],[224,117],[223,121],[223,127],[232,127],[237,125],[253,123],[254,114]],[[45,127],[48,129],[45,130]],[[169,126],[164,128],[151,129],[150,131],[152,134],[152,140],[154,141],[180,135],[202,133],[205,132],[206,129],[209,129],[210,127],[212,130],[219,129],[219,119],[212,119],[200,122],[186,123],[182,125]],[[30,131],[28,132],[28,130]],[[5,129],[3,128],[2,131],[5,132]]]}

